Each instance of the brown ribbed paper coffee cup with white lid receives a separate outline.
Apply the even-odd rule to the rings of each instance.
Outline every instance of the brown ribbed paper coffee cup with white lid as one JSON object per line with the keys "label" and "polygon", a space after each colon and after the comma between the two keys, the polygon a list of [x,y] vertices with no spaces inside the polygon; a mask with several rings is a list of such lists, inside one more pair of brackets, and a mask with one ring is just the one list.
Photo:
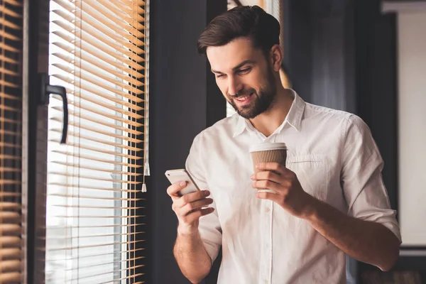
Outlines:
{"label": "brown ribbed paper coffee cup with white lid", "polygon": [[[258,163],[279,163],[285,166],[285,160],[287,160],[287,146],[285,146],[285,143],[255,144],[250,147],[249,151],[254,173],[265,171],[256,169],[256,164]],[[266,188],[258,190],[275,193],[273,190]]]}

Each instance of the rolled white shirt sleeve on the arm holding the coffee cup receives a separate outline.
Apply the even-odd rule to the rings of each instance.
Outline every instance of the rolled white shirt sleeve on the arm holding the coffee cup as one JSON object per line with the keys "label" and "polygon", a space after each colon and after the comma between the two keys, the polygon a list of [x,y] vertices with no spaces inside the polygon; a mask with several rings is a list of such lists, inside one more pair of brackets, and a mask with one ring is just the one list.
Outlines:
{"label": "rolled white shirt sleeve on the arm holding the coffee cup", "polygon": [[342,188],[349,215],[383,224],[401,242],[396,211],[391,209],[383,184],[383,159],[370,129],[362,119],[352,115],[343,138]]}

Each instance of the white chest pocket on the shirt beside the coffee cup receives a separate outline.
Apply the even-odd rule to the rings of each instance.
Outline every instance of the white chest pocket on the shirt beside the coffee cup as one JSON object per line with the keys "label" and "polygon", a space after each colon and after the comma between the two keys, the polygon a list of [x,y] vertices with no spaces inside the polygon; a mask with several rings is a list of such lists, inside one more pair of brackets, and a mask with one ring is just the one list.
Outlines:
{"label": "white chest pocket on the shirt beside the coffee cup", "polygon": [[297,175],[305,192],[327,201],[329,177],[324,155],[290,155],[285,164]]}

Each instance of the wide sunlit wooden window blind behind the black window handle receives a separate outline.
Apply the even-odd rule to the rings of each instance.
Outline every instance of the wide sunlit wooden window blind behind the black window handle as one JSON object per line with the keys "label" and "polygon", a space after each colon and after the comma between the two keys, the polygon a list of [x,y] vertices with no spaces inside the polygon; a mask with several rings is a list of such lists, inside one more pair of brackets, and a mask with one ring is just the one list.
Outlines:
{"label": "wide sunlit wooden window blind behind the black window handle", "polygon": [[45,283],[142,283],[148,1],[50,1]]}

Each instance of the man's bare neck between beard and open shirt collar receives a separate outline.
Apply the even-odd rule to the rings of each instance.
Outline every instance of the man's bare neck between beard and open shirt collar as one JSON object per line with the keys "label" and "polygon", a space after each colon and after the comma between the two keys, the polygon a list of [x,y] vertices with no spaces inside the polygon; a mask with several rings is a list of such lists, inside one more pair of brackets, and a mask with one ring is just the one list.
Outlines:
{"label": "man's bare neck between beard and open shirt collar", "polygon": [[268,111],[259,114],[254,119],[250,119],[251,124],[266,137],[283,124],[287,117],[288,111],[293,104],[293,94],[290,90],[285,89],[282,84],[277,86],[277,95],[275,101]]}

